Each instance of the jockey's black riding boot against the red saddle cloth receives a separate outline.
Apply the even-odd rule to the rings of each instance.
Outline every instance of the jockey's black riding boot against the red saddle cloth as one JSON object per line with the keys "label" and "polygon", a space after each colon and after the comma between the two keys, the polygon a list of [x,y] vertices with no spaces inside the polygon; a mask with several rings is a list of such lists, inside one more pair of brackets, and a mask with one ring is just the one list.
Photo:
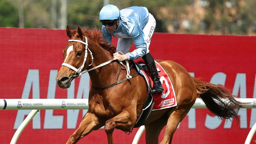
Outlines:
{"label": "jockey's black riding boot against the red saddle cloth", "polygon": [[157,93],[157,92],[162,92],[163,87],[162,87],[160,78],[158,76],[158,72],[157,72],[157,69],[156,69],[155,62],[148,63],[147,66],[148,66],[148,70],[151,73],[153,81],[154,81],[154,85],[153,85],[152,90],[151,90],[152,93],[154,94],[154,93]]}

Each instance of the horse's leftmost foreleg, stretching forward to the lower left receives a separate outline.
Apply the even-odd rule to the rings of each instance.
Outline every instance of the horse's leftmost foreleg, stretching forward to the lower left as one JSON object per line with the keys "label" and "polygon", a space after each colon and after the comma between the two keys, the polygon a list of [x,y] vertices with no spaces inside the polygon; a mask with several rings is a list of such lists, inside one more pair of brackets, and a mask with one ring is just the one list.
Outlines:
{"label": "horse's leftmost foreleg, stretching forward to the lower left", "polygon": [[88,135],[94,129],[99,129],[100,127],[102,127],[102,125],[100,125],[95,114],[87,112],[80,122],[78,129],[72,133],[66,144],[75,144],[82,137]]}

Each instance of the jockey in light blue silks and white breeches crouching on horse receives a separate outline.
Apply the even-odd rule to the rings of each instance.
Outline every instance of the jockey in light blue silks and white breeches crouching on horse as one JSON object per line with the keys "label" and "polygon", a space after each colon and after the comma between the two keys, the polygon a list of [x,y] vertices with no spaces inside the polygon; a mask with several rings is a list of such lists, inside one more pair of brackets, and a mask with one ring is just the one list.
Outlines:
{"label": "jockey in light blue silks and white breeches crouching on horse", "polygon": [[[132,60],[141,57],[152,75],[154,85],[152,93],[162,92],[160,78],[152,55],[148,47],[156,27],[155,18],[148,12],[147,7],[127,7],[119,11],[117,6],[108,4],[100,10],[100,22],[102,22],[102,39],[111,43],[112,35],[118,37],[117,52],[113,54],[118,61]],[[129,52],[132,43],[136,49]]]}

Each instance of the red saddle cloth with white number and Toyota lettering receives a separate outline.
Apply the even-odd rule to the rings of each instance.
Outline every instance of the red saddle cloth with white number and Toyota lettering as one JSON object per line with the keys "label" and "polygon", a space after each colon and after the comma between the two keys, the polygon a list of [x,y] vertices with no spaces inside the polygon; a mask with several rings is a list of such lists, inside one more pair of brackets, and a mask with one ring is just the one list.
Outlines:
{"label": "red saddle cloth with white number and Toyota lettering", "polygon": [[[163,67],[161,65],[159,65],[156,61],[155,61],[155,63],[156,63],[158,75],[160,76],[160,81],[162,83],[164,90],[161,93],[159,92],[159,93],[153,94],[155,104],[154,104],[152,111],[156,111],[156,110],[160,110],[160,109],[167,109],[170,107],[177,106],[176,95],[175,95],[175,92],[173,89],[173,84],[171,82],[171,79],[166,74]],[[147,83],[149,83],[148,77],[145,75],[145,72],[142,70],[141,70],[141,72],[143,73],[144,77],[147,79]],[[150,76],[151,85],[153,85],[153,81],[151,79],[151,74],[148,72],[147,72],[147,74],[148,74],[148,76]]]}

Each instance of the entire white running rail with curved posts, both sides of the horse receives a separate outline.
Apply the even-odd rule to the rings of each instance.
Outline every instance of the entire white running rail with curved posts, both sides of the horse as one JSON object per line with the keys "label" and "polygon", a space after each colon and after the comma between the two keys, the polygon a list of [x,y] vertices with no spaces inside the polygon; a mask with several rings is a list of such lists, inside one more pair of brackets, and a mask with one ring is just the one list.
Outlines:
{"label": "entire white running rail with curved posts, both sides of the horse", "polygon": [[[240,102],[247,103],[245,108],[256,108],[256,98],[238,98]],[[19,126],[10,144],[16,144],[20,134],[32,120],[33,116],[41,109],[88,109],[88,99],[0,99],[0,110],[20,110],[32,109],[30,114],[25,118]],[[206,105],[201,99],[197,99],[192,108],[205,109]],[[141,126],[137,131],[132,144],[137,144],[145,126]],[[250,144],[252,137],[256,131],[256,123],[252,127],[245,140],[245,144]]]}

